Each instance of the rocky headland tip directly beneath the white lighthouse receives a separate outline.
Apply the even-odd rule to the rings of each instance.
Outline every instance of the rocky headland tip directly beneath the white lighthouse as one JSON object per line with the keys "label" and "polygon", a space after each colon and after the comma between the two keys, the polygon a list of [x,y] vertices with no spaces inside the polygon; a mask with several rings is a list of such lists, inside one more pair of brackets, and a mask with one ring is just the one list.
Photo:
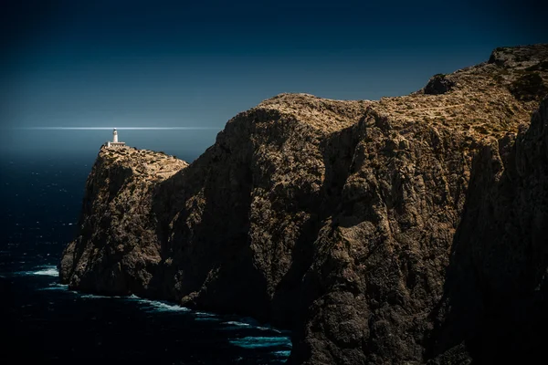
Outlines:
{"label": "rocky headland tip directly beneath the white lighthouse", "polygon": [[160,262],[153,187],[187,166],[162,152],[101,147],[86,183],[79,233],[62,255],[61,282],[82,291],[156,295]]}

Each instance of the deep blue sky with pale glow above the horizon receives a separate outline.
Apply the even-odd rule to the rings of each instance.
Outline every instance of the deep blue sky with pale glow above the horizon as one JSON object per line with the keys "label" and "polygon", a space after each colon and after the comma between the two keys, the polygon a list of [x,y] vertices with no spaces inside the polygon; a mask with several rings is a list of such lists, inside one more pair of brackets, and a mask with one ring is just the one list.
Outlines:
{"label": "deep blue sky with pale glow above the horizon", "polygon": [[527,1],[10,0],[1,15],[3,153],[94,154],[111,132],[25,127],[201,127],[121,131],[193,160],[237,112],[281,92],[379,99],[548,42]]}

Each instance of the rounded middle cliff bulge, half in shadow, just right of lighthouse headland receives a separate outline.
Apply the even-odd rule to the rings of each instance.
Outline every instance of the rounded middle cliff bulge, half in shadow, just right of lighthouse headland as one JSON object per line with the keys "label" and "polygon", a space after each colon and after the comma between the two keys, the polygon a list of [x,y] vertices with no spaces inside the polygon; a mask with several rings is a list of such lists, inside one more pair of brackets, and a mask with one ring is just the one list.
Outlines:
{"label": "rounded middle cliff bulge, half in shadow, just right of lighthouse headland", "polygon": [[324,190],[321,141],[329,134],[314,126],[313,112],[332,108],[340,119],[334,128],[342,128],[359,120],[367,102],[279,99],[293,104],[262,104],[230,120],[214,146],[162,184],[159,196],[171,200],[168,211],[163,204],[157,211],[162,281],[177,301],[290,327]]}

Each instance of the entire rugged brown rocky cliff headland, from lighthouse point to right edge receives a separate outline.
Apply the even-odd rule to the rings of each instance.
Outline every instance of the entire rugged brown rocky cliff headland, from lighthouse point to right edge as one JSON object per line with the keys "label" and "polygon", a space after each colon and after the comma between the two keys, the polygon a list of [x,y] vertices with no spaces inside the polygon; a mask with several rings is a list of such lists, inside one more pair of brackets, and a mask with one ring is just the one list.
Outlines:
{"label": "entire rugged brown rocky cliff headland, from lighthouse point to right edge", "polygon": [[547,60],[498,48],[378,101],[282,94],[188,166],[102,149],[61,280],[291,328],[295,363],[538,352]]}

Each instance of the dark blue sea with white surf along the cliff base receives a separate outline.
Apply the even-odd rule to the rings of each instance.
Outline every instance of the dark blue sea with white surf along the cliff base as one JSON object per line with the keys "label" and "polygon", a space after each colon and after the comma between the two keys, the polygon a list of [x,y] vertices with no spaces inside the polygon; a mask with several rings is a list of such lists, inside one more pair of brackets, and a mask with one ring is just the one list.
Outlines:
{"label": "dark blue sea with white surf along the cliff base", "polygon": [[58,283],[94,159],[0,158],[0,363],[284,363],[290,334],[251,318]]}

